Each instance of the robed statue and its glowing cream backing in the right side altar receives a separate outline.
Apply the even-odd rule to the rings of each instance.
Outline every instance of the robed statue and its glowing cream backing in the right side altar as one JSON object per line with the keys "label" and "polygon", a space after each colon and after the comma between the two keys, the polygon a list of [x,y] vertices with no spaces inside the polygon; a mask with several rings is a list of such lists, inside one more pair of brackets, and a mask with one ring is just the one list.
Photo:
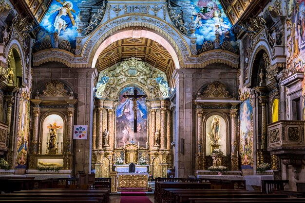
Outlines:
{"label": "robed statue and its glowing cream backing in the right side altar", "polygon": [[212,153],[211,145],[213,145],[214,148],[218,148],[219,150],[221,150],[224,155],[227,155],[226,142],[227,136],[225,119],[218,115],[210,116],[206,122],[206,155],[210,155]]}

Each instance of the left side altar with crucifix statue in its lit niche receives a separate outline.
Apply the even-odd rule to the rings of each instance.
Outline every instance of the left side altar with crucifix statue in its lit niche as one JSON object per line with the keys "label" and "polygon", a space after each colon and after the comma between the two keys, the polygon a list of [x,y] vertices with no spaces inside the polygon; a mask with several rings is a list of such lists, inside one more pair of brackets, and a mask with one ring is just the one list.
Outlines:
{"label": "left side altar with crucifix statue in its lit niche", "polygon": [[70,87],[51,81],[38,88],[33,105],[29,169],[73,168],[73,123],[77,100]]}

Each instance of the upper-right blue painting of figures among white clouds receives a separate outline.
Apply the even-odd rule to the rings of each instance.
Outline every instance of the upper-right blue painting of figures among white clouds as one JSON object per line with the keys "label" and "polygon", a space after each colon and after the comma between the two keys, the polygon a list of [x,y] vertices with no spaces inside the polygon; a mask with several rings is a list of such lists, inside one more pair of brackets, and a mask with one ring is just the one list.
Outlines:
{"label": "upper-right blue painting of figures among white clouds", "polygon": [[228,42],[236,48],[236,39],[230,33],[231,24],[226,16],[219,0],[190,0],[194,7],[192,16],[196,23],[195,36],[197,37],[197,49],[201,50],[207,41],[219,36],[220,44]]}

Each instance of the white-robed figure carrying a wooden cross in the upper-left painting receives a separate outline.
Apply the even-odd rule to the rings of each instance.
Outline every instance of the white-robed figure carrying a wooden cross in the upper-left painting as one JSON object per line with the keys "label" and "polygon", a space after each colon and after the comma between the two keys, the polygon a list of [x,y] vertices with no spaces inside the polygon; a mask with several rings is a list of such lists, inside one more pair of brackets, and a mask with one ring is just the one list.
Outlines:
{"label": "white-robed figure carrying a wooden cross in the upper-left painting", "polygon": [[71,1],[63,1],[57,0],[62,7],[51,11],[49,13],[53,13],[49,19],[52,23],[51,32],[59,35],[61,30],[66,31],[66,28],[71,28],[75,25],[76,15],[75,10],[73,10],[73,3]]}

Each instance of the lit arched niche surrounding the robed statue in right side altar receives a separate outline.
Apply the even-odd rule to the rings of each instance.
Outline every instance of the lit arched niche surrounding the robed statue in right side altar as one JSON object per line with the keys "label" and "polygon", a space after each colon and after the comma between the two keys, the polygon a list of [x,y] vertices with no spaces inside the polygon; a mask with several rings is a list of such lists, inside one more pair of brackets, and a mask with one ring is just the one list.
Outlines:
{"label": "lit arched niche surrounding the robed statue in right side altar", "polygon": [[[223,155],[229,154],[229,120],[228,118],[220,113],[210,113],[208,114],[203,122],[203,129],[205,129],[205,143],[206,143],[206,154],[211,155],[211,142],[209,141],[209,135],[215,132],[215,125],[212,126],[212,122],[214,118],[219,118],[219,126],[218,126],[218,136],[220,138],[219,141],[219,149],[224,153]],[[213,128],[214,127],[214,128]]]}

